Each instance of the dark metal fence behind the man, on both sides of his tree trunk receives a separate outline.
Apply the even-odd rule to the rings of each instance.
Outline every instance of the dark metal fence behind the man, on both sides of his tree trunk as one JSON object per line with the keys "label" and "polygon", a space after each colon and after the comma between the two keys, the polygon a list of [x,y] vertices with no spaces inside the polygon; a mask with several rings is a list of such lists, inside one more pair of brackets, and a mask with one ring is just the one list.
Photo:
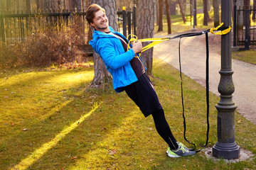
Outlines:
{"label": "dark metal fence behind the man, on both sides of his tree trunk", "polygon": [[[136,34],[136,18],[132,11],[118,11],[118,30],[125,37],[127,33]],[[24,41],[29,35],[37,33],[38,29],[52,28],[62,30],[70,22],[82,21],[87,38],[88,25],[85,21],[85,12],[58,12],[44,11],[43,13],[0,13],[0,40],[7,44]]]}

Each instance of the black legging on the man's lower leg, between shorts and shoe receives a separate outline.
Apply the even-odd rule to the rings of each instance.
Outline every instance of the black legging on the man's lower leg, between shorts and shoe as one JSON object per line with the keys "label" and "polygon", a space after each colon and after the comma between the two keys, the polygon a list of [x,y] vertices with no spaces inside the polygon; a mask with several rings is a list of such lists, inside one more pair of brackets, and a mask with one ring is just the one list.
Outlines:
{"label": "black legging on the man's lower leg, between shorts and shoe", "polygon": [[156,111],[152,113],[152,116],[154,118],[156,131],[159,133],[159,135],[164,139],[164,141],[169,145],[171,149],[177,149],[178,144],[166,121],[166,118],[164,116],[164,110],[161,109],[159,111]]}

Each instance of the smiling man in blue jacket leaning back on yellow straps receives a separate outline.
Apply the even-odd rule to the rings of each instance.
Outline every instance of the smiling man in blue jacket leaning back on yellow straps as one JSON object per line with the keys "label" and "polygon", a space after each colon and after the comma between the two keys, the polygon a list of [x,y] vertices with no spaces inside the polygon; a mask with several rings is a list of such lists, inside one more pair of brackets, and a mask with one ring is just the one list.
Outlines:
{"label": "smiling man in blue jacket leaning back on yellow straps", "polygon": [[171,133],[154,86],[146,74],[142,60],[137,57],[137,53],[142,51],[142,42],[134,42],[127,50],[127,38],[109,26],[105,9],[97,4],[87,8],[86,19],[95,28],[90,45],[112,74],[114,90],[117,93],[125,91],[145,117],[153,116],[157,132],[169,145],[169,157],[196,154],[181,142],[177,142]]}

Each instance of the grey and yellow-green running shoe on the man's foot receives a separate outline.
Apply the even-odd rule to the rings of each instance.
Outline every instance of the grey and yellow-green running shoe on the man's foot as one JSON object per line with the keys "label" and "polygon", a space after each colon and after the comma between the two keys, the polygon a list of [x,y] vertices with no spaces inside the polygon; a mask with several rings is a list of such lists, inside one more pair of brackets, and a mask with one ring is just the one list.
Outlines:
{"label": "grey and yellow-green running shoe on the man's foot", "polygon": [[166,153],[169,157],[188,157],[196,154],[195,151],[189,150],[185,145],[181,145],[181,143],[178,144],[178,149],[176,150],[172,150],[168,147]]}

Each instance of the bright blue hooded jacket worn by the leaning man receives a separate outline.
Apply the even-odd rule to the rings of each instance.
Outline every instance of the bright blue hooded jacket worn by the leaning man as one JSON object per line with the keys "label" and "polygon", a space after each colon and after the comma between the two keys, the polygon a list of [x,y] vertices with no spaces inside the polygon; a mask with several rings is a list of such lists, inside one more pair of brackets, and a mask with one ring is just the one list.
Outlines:
{"label": "bright blue hooded jacket worn by the leaning man", "polygon": [[[124,35],[115,32],[111,27],[109,28],[112,33],[118,34],[124,40],[127,40]],[[129,63],[135,56],[134,50],[130,49],[124,52],[122,43],[114,35],[95,30],[89,44],[100,55],[107,70],[112,75],[114,90],[117,93],[124,91],[124,86],[128,86],[138,80]]]}

